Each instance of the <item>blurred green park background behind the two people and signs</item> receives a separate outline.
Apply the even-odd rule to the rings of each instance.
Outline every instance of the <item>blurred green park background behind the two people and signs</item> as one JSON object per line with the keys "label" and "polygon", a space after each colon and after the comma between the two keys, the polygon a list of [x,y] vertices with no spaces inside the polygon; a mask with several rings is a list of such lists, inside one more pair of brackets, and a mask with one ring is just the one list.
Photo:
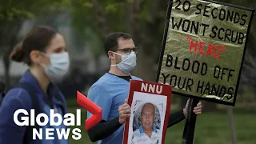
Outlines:
{"label": "blurred green park background behind the two people and signs", "polygon": [[[219,0],[256,8],[256,0]],[[133,74],[154,82],[162,46],[167,0],[1,0],[0,4],[0,81],[6,89],[13,86],[26,71],[22,63],[10,62],[14,46],[33,26],[51,26],[64,35],[70,53],[70,73],[58,86],[68,100],[70,112],[76,104],[76,90],[86,94],[90,86],[109,70],[103,50],[107,34],[122,31],[132,34],[138,53]],[[238,144],[255,144],[256,129],[256,18],[247,35],[246,57],[242,67],[237,104],[234,111],[234,134]],[[173,95],[172,111],[185,106],[186,98]],[[227,106],[203,102],[198,117],[194,144],[231,143]],[[86,112],[82,114],[86,119]],[[83,121],[83,120],[82,120]],[[182,140],[184,122],[168,130],[166,143]],[[84,126],[81,128],[84,129]],[[91,143],[86,132],[79,141]]]}

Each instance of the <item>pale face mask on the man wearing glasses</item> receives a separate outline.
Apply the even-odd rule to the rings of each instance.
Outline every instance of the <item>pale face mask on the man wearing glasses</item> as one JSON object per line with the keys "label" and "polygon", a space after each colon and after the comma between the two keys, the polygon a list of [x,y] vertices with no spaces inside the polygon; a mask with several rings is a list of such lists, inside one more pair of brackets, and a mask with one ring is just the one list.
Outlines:
{"label": "pale face mask on the man wearing glasses", "polygon": [[[118,53],[114,53],[118,54]],[[134,67],[136,66],[136,54],[134,51],[132,51],[129,55],[127,54],[118,54],[121,55],[122,61],[119,62],[116,65],[111,65],[111,66],[118,66],[120,70],[124,73],[130,73],[130,70],[133,70]]]}

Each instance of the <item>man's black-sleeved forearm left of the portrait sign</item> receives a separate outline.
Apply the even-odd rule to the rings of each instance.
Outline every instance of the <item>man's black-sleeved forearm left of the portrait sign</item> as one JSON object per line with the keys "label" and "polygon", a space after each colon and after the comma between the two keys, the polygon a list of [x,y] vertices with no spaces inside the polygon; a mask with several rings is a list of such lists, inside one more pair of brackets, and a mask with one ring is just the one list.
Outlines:
{"label": "man's black-sleeved forearm left of the portrait sign", "polygon": [[119,118],[114,118],[110,121],[102,121],[88,130],[88,135],[91,142],[97,142],[113,134],[122,124],[118,121]]}

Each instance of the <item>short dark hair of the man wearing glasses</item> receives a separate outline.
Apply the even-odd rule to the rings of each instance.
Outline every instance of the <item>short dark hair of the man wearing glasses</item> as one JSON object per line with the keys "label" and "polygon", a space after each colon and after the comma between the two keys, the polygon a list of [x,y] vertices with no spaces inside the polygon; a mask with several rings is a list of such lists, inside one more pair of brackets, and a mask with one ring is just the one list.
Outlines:
{"label": "short dark hair of the man wearing glasses", "polygon": [[123,39],[131,39],[130,34],[122,33],[122,32],[117,32],[110,34],[104,42],[104,48],[106,55],[108,56],[109,51],[116,51],[118,49],[118,39],[123,38]]}

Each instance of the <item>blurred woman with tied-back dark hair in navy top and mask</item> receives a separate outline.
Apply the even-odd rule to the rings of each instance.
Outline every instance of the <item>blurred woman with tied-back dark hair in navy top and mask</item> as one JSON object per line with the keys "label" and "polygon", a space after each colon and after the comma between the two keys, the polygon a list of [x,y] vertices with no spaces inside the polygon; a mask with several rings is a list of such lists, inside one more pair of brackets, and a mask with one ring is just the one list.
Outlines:
{"label": "blurred woman with tied-back dark hair in navy top and mask", "polygon": [[[0,143],[68,143],[64,137],[59,140],[56,131],[66,129],[66,126],[62,123],[59,126],[50,126],[50,109],[61,114],[62,119],[67,112],[66,100],[54,86],[55,82],[62,80],[70,66],[62,34],[47,26],[37,26],[26,34],[23,42],[10,54],[10,59],[26,63],[29,70],[23,74],[18,85],[10,89],[3,98],[0,106]],[[18,109],[24,109],[28,114],[14,114]],[[34,109],[34,117],[39,113],[47,114],[48,123],[39,126],[38,120],[34,118],[34,126],[31,126],[32,118],[28,118],[33,113],[30,112],[31,109]],[[41,118],[40,121],[45,120]],[[57,122],[56,119],[54,121]],[[26,122],[29,126],[24,126]],[[46,131],[47,128],[53,128],[54,131]],[[37,133],[42,134],[42,139],[39,139]],[[50,140],[46,140],[48,133]]]}

